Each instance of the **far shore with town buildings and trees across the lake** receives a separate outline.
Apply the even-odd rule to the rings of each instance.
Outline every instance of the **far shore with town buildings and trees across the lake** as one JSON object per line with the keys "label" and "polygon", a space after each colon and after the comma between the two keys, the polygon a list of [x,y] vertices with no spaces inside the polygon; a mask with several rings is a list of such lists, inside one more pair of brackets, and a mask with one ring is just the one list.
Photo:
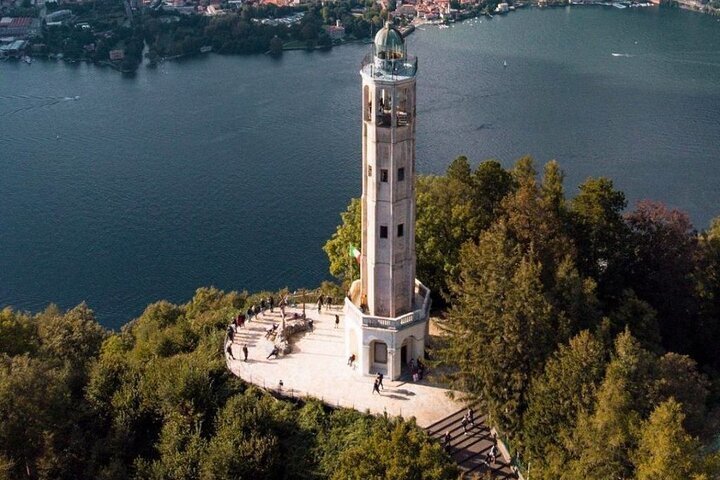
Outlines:
{"label": "far shore with town buildings and trees across the lake", "polygon": [[391,18],[403,35],[525,7],[669,6],[720,14],[720,0],[0,0],[0,59],[143,63],[222,54],[327,49],[369,41]]}

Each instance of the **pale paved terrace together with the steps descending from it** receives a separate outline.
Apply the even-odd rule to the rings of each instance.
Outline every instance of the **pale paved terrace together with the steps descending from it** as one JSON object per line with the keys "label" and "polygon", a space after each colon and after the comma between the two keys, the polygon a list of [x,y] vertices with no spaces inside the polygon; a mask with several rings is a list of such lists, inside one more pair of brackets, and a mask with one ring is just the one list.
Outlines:
{"label": "pale paved terrace together with the steps descending from it", "polygon": [[[300,315],[302,308],[286,308],[286,318],[292,318],[294,313]],[[297,334],[291,341],[292,352],[279,358],[266,358],[273,343],[265,339],[265,332],[281,322],[279,308],[273,313],[266,311],[259,319],[254,318],[244,328],[237,329],[231,346],[235,359],[227,357],[230,370],[247,382],[280,391],[287,397],[311,396],[331,406],[415,417],[417,424],[435,438],[450,431],[449,450],[464,470],[482,472],[489,468],[496,478],[517,478],[508,464],[509,457],[502,455],[501,445],[498,445],[501,448],[497,461],[491,466],[485,463],[493,443],[492,432],[483,423],[481,412],[476,411],[476,425],[469,428],[466,435],[460,424],[465,405],[451,400],[444,388],[431,386],[425,380],[414,383],[386,378],[382,394],[373,394],[375,377],[363,376],[357,367],[347,364],[342,308],[323,307],[318,314],[316,305],[307,304],[306,315],[313,320],[313,331]],[[340,317],[338,328],[335,328],[335,315]],[[245,344],[249,351],[247,362],[242,360]]]}

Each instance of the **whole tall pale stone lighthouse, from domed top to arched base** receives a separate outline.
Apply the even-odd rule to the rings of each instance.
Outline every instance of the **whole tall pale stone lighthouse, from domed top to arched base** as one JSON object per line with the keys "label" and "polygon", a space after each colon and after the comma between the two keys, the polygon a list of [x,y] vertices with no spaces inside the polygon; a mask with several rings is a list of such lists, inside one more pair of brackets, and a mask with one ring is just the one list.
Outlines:
{"label": "whole tall pale stone lighthouse, from domed top to arched base", "polygon": [[415,279],[417,59],[390,23],[362,76],[360,279],[345,301],[345,346],[361,373],[399,378],[425,350],[428,289]]}

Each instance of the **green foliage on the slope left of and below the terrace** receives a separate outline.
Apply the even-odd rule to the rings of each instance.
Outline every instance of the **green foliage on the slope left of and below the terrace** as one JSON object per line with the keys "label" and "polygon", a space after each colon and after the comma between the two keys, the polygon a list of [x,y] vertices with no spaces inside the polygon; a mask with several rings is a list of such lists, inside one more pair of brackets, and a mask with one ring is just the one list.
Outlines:
{"label": "green foliage on the slope left of and below the terrace", "polygon": [[[339,457],[367,448],[359,433],[393,431],[408,443],[394,437],[388,474],[454,478],[449,457],[413,424],[248,389],[220,348],[247,299],[198,289],[111,335],[84,304],[35,317],[4,310],[1,331],[17,342],[0,352],[0,479],[329,478]],[[419,462],[402,466],[407,452]]]}

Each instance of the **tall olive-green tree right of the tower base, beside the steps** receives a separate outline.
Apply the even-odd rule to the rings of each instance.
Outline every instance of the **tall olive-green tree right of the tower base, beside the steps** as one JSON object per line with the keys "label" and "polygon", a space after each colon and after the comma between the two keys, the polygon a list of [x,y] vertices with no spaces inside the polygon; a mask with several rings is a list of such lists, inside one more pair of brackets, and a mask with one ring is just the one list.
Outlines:
{"label": "tall olive-green tree right of the tower base, beside the steps", "polygon": [[461,251],[455,302],[440,323],[449,336],[439,352],[457,370],[453,385],[484,402],[493,420],[515,435],[522,428],[533,375],[554,350],[551,306],[540,266],[523,256],[504,223]]}

